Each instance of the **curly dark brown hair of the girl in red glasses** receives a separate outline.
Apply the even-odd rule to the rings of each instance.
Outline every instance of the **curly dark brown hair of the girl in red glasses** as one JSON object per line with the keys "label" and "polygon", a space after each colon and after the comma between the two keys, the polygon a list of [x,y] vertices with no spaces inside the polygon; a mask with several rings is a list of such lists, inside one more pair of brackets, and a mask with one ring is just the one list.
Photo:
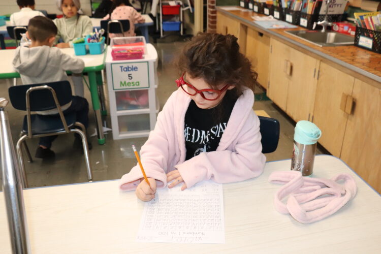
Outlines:
{"label": "curly dark brown hair of the girl in red glasses", "polygon": [[213,88],[234,85],[237,97],[242,94],[242,86],[253,90],[258,76],[232,35],[199,33],[185,44],[177,67],[179,75],[186,72],[192,78],[202,78]]}

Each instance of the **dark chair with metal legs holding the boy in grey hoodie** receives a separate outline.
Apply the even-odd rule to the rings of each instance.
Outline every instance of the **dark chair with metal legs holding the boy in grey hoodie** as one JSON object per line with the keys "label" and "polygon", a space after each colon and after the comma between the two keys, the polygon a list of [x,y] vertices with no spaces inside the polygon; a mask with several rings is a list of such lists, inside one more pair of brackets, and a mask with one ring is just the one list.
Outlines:
{"label": "dark chair with metal legs holding the boy in grey hoodie", "polygon": [[[75,112],[64,115],[61,110],[62,105],[66,105],[72,101],[72,89],[69,81],[12,86],[9,88],[9,98],[15,109],[23,110],[27,113],[24,116],[20,139],[16,145],[24,187],[27,187],[27,181],[21,145],[23,145],[26,150],[28,161],[33,162],[25,143],[26,139],[67,133],[77,133],[82,138],[88,180],[92,181],[85,126],[80,122],[76,122]],[[58,114],[40,115],[30,113],[31,111],[52,109],[57,109]],[[76,129],[76,126],[82,131]]]}

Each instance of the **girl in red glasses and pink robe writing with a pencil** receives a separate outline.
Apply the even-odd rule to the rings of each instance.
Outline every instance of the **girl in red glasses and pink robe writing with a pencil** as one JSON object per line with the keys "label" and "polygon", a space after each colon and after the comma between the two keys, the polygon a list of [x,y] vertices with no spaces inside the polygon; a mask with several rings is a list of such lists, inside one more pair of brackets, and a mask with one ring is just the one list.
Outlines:
{"label": "girl in red glasses and pink robe writing with a pencil", "polygon": [[181,77],[155,129],[140,150],[150,186],[139,166],[122,176],[120,189],[136,189],[143,201],[156,187],[203,180],[243,181],[263,172],[260,121],[253,112],[257,74],[232,35],[204,33],[188,42],[178,59]]}

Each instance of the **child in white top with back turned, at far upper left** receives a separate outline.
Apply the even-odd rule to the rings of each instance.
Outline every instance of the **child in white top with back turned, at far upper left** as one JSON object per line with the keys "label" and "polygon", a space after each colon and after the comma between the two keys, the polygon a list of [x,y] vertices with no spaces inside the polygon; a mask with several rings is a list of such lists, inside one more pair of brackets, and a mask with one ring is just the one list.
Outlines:
{"label": "child in white top with back turned, at far upper left", "polygon": [[17,0],[20,8],[19,12],[15,12],[10,17],[11,26],[28,25],[29,19],[36,16],[44,16],[39,11],[35,11],[35,0]]}

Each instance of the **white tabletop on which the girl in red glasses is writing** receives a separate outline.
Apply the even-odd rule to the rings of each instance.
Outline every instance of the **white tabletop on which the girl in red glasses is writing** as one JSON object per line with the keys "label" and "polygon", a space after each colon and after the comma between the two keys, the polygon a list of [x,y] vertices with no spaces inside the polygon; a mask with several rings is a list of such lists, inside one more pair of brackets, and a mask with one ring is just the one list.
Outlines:
{"label": "white tabletop on which the girl in red glasses is writing", "polygon": [[[136,235],[144,202],[120,192],[118,181],[24,190],[32,253],[381,253],[381,197],[339,158],[317,155],[314,177],[351,174],[356,197],[335,214],[301,224],[274,209],[281,185],[270,173],[291,160],[266,163],[255,179],[224,184],[225,244],[141,243]],[[0,193],[0,246],[10,253],[4,195]]]}

